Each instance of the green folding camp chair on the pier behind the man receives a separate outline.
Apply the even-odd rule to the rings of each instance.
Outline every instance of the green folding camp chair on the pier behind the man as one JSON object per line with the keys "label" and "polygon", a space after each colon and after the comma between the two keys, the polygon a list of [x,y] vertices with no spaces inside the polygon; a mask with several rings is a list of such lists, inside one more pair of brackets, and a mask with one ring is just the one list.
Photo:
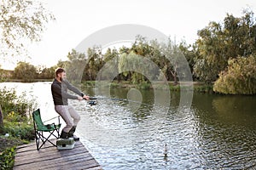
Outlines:
{"label": "green folding camp chair on the pier behind the man", "polygon": [[[40,109],[37,111],[32,112],[33,116],[33,123],[34,123],[34,129],[35,129],[35,136],[36,136],[36,144],[37,144],[37,149],[40,150],[40,148],[48,141],[50,144],[54,145],[57,147],[56,144],[54,144],[52,141],[49,140],[51,136],[54,136],[56,139],[60,138],[60,128],[61,128],[61,123],[60,123],[60,116],[56,116],[50,120],[53,120],[55,118],[58,118],[59,122],[58,124],[51,123],[51,124],[44,124],[42,122],[42,118],[40,115]],[[45,121],[45,122],[48,122]],[[55,134],[55,132],[57,134]],[[45,136],[45,133],[48,133],[49,136]]]}

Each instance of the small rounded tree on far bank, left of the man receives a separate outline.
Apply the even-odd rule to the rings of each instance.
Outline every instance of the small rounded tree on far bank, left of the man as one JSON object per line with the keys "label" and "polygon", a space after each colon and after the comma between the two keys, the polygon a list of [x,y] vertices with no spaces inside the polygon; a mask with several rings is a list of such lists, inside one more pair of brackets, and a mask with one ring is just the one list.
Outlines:
{"label": "small rounded tree on far bank, left of the man", "polygon": [[20,61],[15,67],[14,77],[31,82],[37,76],[37,69],[34,65]]}

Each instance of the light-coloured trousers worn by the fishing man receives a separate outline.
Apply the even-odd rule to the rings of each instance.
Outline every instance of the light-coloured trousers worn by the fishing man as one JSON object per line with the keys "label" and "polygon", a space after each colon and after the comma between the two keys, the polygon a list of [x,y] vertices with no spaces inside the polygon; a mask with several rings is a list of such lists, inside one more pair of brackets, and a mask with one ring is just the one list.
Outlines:
{"label": "light-coloured trousers worn by the fishing man", "polygon": [[77,126],[80,121],[80,116],[70,105],[55,105],[55,111],[62,117],[66,122],[66,127],[62,130],[68,133],[73,126]]}

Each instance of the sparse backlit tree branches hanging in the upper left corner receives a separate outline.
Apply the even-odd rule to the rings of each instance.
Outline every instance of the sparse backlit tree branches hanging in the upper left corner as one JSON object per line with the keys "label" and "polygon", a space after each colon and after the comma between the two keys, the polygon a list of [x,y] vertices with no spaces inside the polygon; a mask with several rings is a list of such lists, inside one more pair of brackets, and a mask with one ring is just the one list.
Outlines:
{"label": "sparse backlit tree branches hanging in the upper left corner", "polygon": [[55,17],[42,3],[32,0],[1,0],[1,55],[24,54],[26,42],[40,41],[40,35],[49,20],[55,20]]}

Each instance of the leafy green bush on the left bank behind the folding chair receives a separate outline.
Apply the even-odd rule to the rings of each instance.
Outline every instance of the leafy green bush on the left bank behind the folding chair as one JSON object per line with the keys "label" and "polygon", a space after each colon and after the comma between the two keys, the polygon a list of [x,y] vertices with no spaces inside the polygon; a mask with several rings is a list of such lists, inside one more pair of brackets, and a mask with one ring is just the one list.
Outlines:
{"label": "leafy green bush on the left bank behind the folding chair", "polygon": [[1,133],[9,133],[18,139],[34,139],[31,112],[35,103],[26,99],[26,95],[17,96],[15,89],[0,89],[0,105],[3,111]]}

